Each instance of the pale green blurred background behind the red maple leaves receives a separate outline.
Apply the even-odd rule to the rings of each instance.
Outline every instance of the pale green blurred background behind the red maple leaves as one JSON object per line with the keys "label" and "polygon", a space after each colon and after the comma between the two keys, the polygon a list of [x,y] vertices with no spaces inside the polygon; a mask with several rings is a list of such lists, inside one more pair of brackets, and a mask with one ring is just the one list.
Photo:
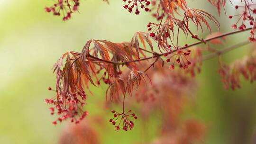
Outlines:
{"label": "pale green blurred background behind the red maple leaves", "polygon": [[[101,0],[82,0],[80,13],[63,22],[45,12],[44,7],[52,4],[52,0],[0,0],[0,144],[55,144],[68,124],[53,126],[54,117],[44,102],[53,95],[47,88],[55,85],[51,70],[55,61],[66,51],[81,51],[89,39],[130,41],[136,31],[146,31],[146,24],[154,21],[145,12],[139,16],[128,13],[122,8],[122,0],[110,0],[110,5]],[[188,5],[203,7],[217,16],[207,0],[190,0]],[[226,7],[227,15],[232,11]],[[224,12],[218,19],[222,31],[231,31],[234,21]],[[247,39],[247,35],[229,36],[225,45]],[[190,41],[183,38],[183,43]],[[247,54],[249,48],[247,45],[224,54],[223,59],[230,63]],[[195,107],[187,108],[185,113],[206,124],[206,144],[250,144],[256,126],[256,85],[243,81],[239,90],[223,90],[217,69],[217,59],[203,63],[197,76]],[[95,94],[86,107],[91,116],[103,115],[107,123],[109,111],[97,105],[105,100],[105,89],[92,89]],[[160,125],[157,121],[149,121],[151,130],[146,141],[154,139],[155,127]],[[100,130],[102,144],[144,141],[139,123],[127,133],[116,132],[107,123],[108,128]]]}

